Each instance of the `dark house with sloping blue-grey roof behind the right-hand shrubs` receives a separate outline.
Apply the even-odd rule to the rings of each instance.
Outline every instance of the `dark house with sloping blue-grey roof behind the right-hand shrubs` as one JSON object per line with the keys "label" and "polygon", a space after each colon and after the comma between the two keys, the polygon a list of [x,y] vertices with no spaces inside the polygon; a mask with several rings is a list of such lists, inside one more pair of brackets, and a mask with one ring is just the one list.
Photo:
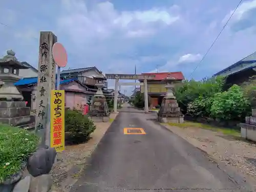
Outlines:
{"label": "dark house with sloping blue-grey roof behind the right-hand shrubs", "polygon": [[256,52],[219,71],[214,76],[225,76],[225,88],[228,89],[233,84],[241,85],[248,81],[250,77],[256,75],[254,69],[256,69]]}

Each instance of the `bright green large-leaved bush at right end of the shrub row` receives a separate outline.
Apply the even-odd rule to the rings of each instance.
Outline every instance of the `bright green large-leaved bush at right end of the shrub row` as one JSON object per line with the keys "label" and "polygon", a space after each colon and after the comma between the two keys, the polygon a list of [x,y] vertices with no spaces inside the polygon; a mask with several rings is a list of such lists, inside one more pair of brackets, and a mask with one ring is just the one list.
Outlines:
{"label": "bright green large-leaved bush at right end of the shrub row", "polygon": [[211,104],[210,115],[224,120],[242,120],[250,111],[250,103],[241,88],[234,84],[228,91],[217,93]]}

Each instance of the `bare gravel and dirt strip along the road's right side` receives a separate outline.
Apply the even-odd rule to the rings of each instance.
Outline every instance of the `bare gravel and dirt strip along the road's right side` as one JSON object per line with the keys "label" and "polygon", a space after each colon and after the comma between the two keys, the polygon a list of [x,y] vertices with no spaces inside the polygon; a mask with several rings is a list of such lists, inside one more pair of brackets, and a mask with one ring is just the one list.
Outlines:
{"label": "bare gravel and dirt strip along the road's right side", "polygon": [[197,127],[177,127],[162,124],[190,144],[207,153],[216,162],[236,168],[245,178],[256,183],[256,144],[241,137]]}

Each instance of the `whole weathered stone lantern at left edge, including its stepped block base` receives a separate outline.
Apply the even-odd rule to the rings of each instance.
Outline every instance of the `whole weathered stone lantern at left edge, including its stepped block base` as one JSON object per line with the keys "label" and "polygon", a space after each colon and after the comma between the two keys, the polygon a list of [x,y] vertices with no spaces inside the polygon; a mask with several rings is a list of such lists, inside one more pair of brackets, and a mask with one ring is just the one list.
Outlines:
{"label": "whole weathered stone lantern at left edge, including its stepped block base", "polygon": [[7,51],[7,55],[0,59],[0,122],[30,129],[34,127],[35,116],[30,115],[30,108],[13,84],[21,78],[19,69],[28,67],[17,60],[12,50]]}

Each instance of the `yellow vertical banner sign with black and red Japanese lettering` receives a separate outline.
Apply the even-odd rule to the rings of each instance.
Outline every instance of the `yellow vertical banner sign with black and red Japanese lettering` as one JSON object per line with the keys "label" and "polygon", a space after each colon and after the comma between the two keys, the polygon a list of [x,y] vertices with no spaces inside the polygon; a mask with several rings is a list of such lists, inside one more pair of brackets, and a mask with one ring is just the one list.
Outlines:
{"label": "yellow vertical banner sign with black and red Japanese lettering", "polygon": [[51,147],[65,150],[65,91],[51,91]]}

